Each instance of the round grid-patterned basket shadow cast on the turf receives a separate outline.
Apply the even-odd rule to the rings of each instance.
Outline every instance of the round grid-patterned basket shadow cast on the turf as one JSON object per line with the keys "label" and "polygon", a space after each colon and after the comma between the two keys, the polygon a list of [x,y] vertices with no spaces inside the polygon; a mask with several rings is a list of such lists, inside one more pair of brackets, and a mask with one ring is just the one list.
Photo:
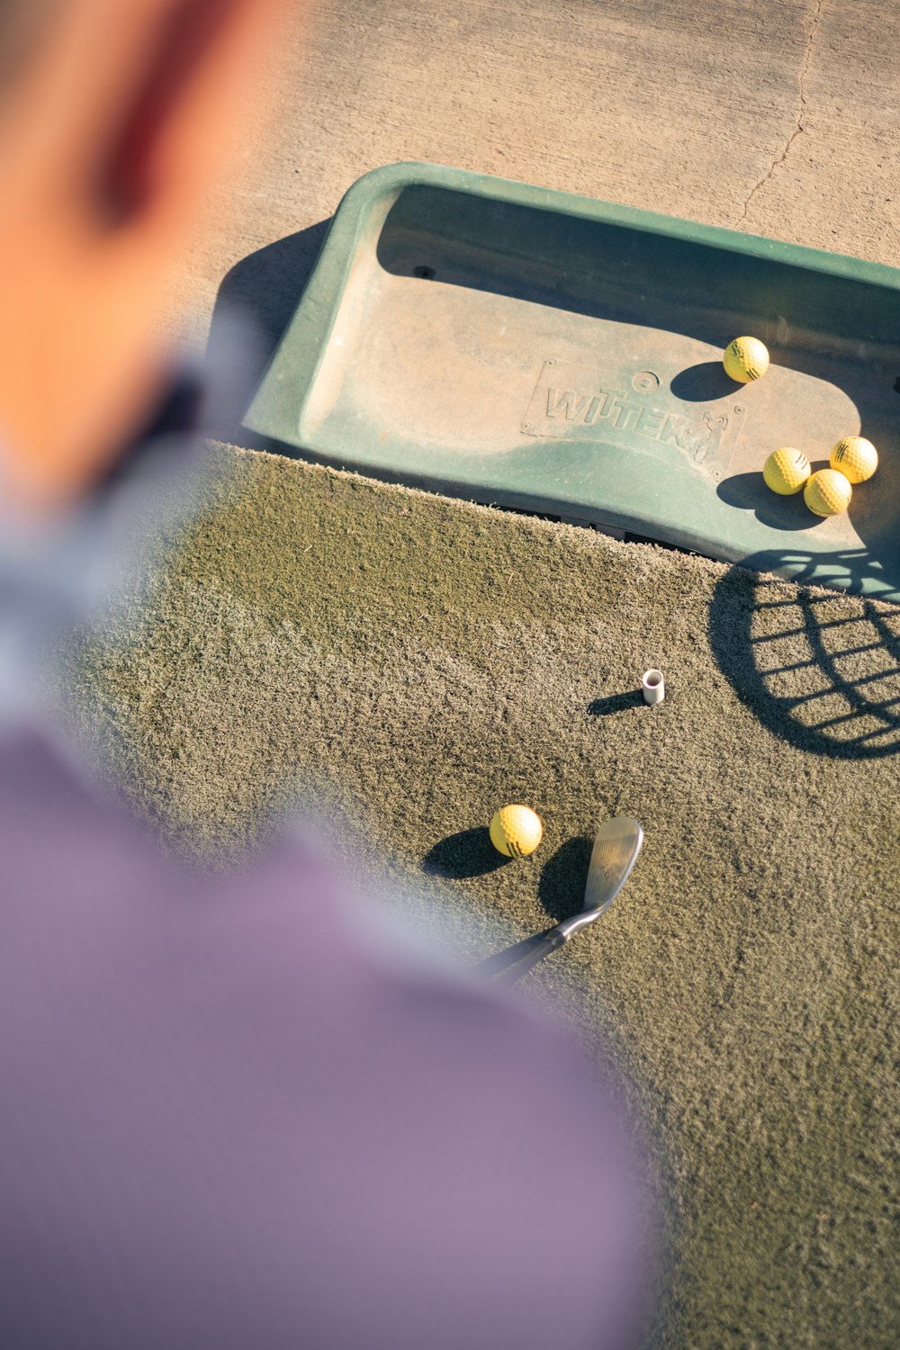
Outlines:
{"label": "round grid-patterned basket shadow cast on the turf", "polygon": [[[857,587],[864,549],[835,554]],[[799,585],[770,575],[791,564]],[[730,568],[710,606],[715,660],[738,698],[773,734],[835,759],[900,749],[900,608],[862,595],[811,591],[822,555],[765,552]]]}

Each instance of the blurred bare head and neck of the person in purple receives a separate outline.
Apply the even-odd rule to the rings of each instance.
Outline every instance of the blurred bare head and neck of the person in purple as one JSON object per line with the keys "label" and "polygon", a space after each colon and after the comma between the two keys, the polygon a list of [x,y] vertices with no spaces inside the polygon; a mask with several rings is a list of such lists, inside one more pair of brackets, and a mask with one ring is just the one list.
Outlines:
{"label": "blurred bare head and neck of the person in purple", "polygon": [[283,4],[16,0],[0,12],[8,502],[77,495],[158,397],[169,275],[232,161]]}

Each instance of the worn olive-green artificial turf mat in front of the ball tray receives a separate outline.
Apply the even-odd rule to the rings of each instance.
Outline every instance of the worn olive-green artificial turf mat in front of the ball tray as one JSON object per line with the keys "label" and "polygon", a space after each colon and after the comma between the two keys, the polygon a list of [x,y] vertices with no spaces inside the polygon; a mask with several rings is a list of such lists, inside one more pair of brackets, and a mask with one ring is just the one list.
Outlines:
{"label": "worn olive-green artificial turf mat in front of the ball tray", "polygon": [[[362,826],[335,833],[348,867],[466,959],[572,913],[596,825],[636,815],[626,890],[529,979],[611,1048],[648,1131],[650,1341],[893,1347],[900,609],[209,459],[202,517],[73,664],[139,809],[221,859],[300,782]],[[503,864],[484,826],[510,801],[545,838]]]}

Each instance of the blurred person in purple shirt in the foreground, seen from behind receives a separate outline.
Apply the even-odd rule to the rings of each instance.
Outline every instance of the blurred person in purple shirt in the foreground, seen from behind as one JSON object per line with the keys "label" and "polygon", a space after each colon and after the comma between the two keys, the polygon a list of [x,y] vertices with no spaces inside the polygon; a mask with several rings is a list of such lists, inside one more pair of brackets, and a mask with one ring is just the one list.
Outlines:
{"label": "blurred person in purple shirt in the foreground, seen from behind", "polygon": [[279,9],[54,0],[0,101],[0,1345],[630,1346],[640,1160],[569,1038],[355,938],[300,833],[182,868],[32,698],[215,431],[161,297]]}

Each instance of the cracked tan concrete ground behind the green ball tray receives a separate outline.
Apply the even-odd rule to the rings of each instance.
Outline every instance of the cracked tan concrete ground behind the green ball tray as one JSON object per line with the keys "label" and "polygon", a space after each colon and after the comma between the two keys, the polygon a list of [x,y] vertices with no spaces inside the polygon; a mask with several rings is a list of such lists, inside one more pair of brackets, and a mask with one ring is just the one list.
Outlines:
{"label": "cracked tan concrete ground behind the green ball tray", "polygon": [[283,323],[316,227],[363,173],[403,159],[900,263],[889,0],[294,5],[243,173],[175,284],[192,336],[236,263],[306,231],[293,275],[239,279]]}

